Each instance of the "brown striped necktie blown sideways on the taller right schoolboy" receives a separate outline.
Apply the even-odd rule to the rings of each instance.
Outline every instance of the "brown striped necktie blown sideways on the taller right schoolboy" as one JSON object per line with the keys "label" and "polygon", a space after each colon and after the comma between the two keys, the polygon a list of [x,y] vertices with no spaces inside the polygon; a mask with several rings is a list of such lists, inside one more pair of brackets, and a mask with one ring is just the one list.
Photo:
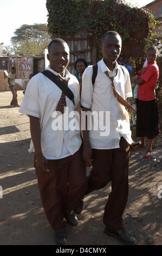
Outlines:
{"label": "brown striped necktie blown sideways on the taller right schoolboy", "polygon": [[114,96],[116,97],[116,99],[118,100],[118,102],[125,106],[125,108],[129,111],[129,112],[136,112],[135,109],[125,100],[123,99],[123,97],[121,97],[119,95],[119,93],[116,91],[116,88],[115,88],[115,84],[114,84],[114,77],[118,74],[118,69],[116,69],[116,74],[115,76],[112,76],[110,77],[109,74],[108,74],[108,71],[105,71],[105,74],[108,76],[108,78],[112,81],[112,87],[113,87],[113,93],[114,93]]}

